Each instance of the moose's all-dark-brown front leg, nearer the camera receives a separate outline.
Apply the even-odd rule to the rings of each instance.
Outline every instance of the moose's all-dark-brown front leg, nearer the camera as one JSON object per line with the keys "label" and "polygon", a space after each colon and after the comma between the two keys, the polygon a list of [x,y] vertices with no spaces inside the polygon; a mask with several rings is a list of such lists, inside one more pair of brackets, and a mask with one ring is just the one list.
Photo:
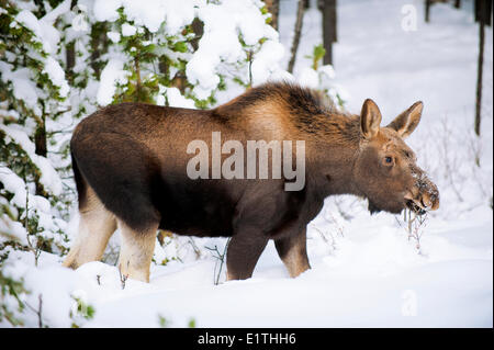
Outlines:
{"label": "moose's all-dark-brown front leg, nearer the camera", "polygon": [[239,229],[228,244],[226,280],[249,279],[267,244],[268,237],[258,228],[245,227]]}

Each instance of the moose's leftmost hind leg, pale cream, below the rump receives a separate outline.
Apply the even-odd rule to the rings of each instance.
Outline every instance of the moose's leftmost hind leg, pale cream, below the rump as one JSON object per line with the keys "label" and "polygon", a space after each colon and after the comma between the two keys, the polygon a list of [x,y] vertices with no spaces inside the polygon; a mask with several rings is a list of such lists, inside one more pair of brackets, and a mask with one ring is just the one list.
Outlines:
{"label": "moose's leftmost hind leg, pale cream, below the rump", "polygon": [[77,269],[86,262],[99,261],[116,229],[114,215],[104,207],[90,187],[87,189],[87,201],[83,207],[79,208],[79,215],[78,235],[63,263],[71,269]]}

